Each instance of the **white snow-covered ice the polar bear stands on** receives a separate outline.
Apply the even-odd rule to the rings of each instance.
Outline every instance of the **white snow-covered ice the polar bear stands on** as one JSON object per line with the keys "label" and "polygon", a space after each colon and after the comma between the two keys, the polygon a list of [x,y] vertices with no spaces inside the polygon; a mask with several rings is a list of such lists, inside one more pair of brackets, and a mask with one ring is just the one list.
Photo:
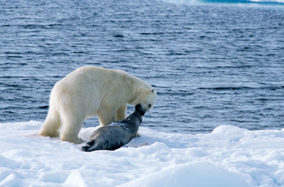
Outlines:
{"label": "white snow-covered ice the polar bear stands on", "polygon": [[192,135],[140,127],[141,137],[121,149],[82,152],[83,144],[38,136],[41,124],[0,124],[0,186],[284,186],[284,129],[226,125]]}

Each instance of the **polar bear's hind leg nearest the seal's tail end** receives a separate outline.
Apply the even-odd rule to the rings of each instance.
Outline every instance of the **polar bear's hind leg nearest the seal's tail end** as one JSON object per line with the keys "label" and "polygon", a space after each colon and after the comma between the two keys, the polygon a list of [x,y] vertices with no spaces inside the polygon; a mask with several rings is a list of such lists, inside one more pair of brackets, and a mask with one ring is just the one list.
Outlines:
{"label": "polar bear's hind leg nearest the seal's tail end", "polygon": [[82,139],[78,137],[84,119],[77,119],[76,117],[69,117],[62,120],[62,129],[60,132],[60,139],[62,141],[69,141],[74,144],[81,144]]}

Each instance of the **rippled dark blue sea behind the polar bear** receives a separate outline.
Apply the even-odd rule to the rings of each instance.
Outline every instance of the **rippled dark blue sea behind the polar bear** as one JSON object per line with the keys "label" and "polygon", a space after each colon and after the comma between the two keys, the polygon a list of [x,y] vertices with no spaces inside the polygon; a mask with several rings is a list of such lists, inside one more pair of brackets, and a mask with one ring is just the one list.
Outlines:
{"label": "rippled dark blue sea behind the polar bear", "polygon": [[144,127],[283,129],[284,1],[0,0],[0,123],[43,122],[55,82],[83,65],[156,87]]}

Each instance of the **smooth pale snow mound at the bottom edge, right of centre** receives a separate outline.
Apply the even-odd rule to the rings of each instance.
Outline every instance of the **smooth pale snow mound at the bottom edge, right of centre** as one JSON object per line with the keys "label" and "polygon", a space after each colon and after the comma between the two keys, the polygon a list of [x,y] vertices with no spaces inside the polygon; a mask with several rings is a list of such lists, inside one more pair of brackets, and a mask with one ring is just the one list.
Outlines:
{"label": "smooth pale snow mound at the bottom edge, right of centre", "polygon": [[121,187],[148,186],[210,186],[210,187],[246,187],[249,186],[241,177],[209,164],[208,162],[195,162],[185,164],[171,164],[165,169],[148,176],[143,176]]}

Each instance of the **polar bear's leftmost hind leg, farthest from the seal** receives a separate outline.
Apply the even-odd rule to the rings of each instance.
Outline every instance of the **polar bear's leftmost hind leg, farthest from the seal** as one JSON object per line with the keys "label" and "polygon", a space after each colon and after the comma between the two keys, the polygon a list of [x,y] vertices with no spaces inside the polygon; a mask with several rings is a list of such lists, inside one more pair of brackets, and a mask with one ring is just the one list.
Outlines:
{"label": "polar bear's leftmost hind leg, farthest from the seal", "polygon": [[44,137],[59,137],[58,129],[61,125],[61,120],[58,112],[48,111],[48,116],[40,128],[40,135]]}

